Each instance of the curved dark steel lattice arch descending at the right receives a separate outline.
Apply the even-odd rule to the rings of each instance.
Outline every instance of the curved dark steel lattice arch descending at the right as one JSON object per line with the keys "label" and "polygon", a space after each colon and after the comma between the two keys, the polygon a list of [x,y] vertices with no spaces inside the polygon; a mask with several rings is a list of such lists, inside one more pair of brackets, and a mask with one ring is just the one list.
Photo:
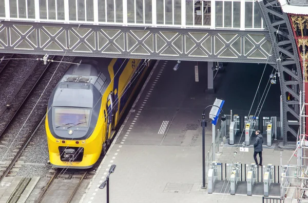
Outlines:
{"label": "curved dark steel lattice arch descending at the right", "polygon": [[[287,14],[282,12],[277,0],[258,1],[274,46],[275,67],[280,74],[283,144],[288,145],[291,144],[288,140],[297,138],[300,126],[299,101],[300,91],[303,90],[301,66]],[[288,97],[292,99],[288,100]]]}

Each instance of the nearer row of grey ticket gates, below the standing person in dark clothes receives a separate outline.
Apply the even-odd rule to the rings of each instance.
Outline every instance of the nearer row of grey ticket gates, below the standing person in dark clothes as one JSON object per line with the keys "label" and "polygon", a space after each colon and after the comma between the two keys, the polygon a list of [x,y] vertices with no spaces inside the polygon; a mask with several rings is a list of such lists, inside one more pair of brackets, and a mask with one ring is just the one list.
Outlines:
{"label": "nearer row of grey ticket gates, below the standing person in dark clothes", "polygon": [[272,164],[260,167],[255,163],[213,162],[208,171],[208,193],[279,196],[279,170]]}

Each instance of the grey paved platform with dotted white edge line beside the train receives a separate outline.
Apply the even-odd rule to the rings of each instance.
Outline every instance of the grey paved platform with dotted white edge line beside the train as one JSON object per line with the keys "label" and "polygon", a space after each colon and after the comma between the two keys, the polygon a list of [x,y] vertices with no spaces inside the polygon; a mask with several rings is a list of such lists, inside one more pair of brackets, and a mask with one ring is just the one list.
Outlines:
{"label": "grey paved platform with dotted white edge line beside the train", "polygon": [[[202,128],[198,120],[205,106],[213,104],[217,95],[232,87],[221,84],[225,89],[220,88],[215,94],[204,93],[207,77],[202,76],[207,69],[199,69],[199,82],[192,82],[195,81],[194,65],[181,63],[179,70],[173,71],[175,62],[157,62],[80,203],[106,202],[106,188],[99,189],[99,186],[113,164],[117,167],[109,179],[112,203],[262,202],[263,195],[230,195],[227,190],[208,194],[207,189],[201,188]],[[222,77],[219,74],[215,83],[230,82]],[[225,100],[229,102],[228,98]],[[247,104],[238,104],[238,109],[244,105]],[[211,139],[208,128],[206,151]],[[234,155],[235,150],[235,145],[220,146],[222,153],[216,155],[216,160],[254,162],[252,148],[248,152],[238,149]],[[278,146],[264,148],[263,165],[280,165],[280,155],[286,162],[292,153]]]}

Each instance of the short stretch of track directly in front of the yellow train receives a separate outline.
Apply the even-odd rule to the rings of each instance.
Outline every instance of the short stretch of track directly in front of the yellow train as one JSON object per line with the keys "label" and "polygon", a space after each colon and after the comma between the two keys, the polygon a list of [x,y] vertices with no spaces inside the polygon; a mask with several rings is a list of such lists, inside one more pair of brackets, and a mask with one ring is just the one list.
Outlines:
{"label": "short stretch of track directly in front of the yellow train", "polygon": [[[45,189],[41,193],[40,197],[38,198],[37,203],[44,203],[44,202],[50,202],[51,199],[53,199],[53,187],[58,188],[59,185],[63,183],[63,181],[67,179],[78,179],[78,182],[74,181],[72,185],[74,185],[74,190],[71,191],[69,194],[66,193],[66,195],[63,195],[62,201],[63,203],[67,202],[70,203],[76,192],[78,191],[80,185],[82,184],[83,180],[87,178],[90,169],[86,170],[75,170],[75,171],[68,171],[68,170],[62,170],[62,169],[56,169],[52,177],[50,178],[48,184],[46,185]],[[55,190],[57,191],[57,190]],[[66,191],[67,192],[67,191]]]}

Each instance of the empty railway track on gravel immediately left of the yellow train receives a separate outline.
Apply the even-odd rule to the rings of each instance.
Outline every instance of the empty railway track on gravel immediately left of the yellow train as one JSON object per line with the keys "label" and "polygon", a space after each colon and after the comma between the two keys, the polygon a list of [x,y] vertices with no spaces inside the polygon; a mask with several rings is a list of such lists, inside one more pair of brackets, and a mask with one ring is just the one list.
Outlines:
{"label": "empty railway track on gravel immediately left of the yellow train", "polygon": [[[55,58],[56,60],[61,59],[62,57],[52,58]],[[43,64],[43,62],[41,63]],[[17,88],[17,93],[12,95],[13,99],[10,99],[13,107],[7,108],[3,111],[2,118],[4,118],[4,115],[7,115],[8,119],[6,122],[4,122],[4,119],[1,120],[3,125],[0,133],[0,161],[2,161],[0,162],[0,182],[8,175],[15,175],[12,173],[13,167],[15,171],[16,169],[18,170],[18,167],[15,165],[18,158],[24,152],[24,149],[29,144],[37,128],[44,121],[47,108],[46,101],[48,101],[49,98],[48,92],[51,92],[54,87],[53,85],[55,85],[57,81],[54,81],[53,85],[47,88],[46,94],[44,94],[40,102],[37,103],[37,107],[34,109],[31,117],[28,117],[28,115],[31,112],[33,103],[35,104],[37,99],[40,98],[40,95],[48,83],[50,76],[57,69],[57,67],[59,67],[59,65],[58,63],[54,63],[53,65],[48,63],[47,65],[42,66],[42,64],[37,65],[36,63],[37,66],[31,67],[31,70],[35,73],[32,72],[32,74],[27,74],[27,77],[25,77],[27,79],[22,81],[25,85],[19,85],[21,88]],[[48,69],[49,66],[50,68]],[[68,64],[65,64],[63,67],[67,69]],[[56,72],[57,74],[54,76],[55,80],[62,76],[63,71],[61,69]],[[44,75],[45,72],[46,76]],[[27,118],[29,118],[29,120],[24,125]],[[20,127],[22,126],[24,126],[23,130],[17,133],[16,130],[20,130]]]}

